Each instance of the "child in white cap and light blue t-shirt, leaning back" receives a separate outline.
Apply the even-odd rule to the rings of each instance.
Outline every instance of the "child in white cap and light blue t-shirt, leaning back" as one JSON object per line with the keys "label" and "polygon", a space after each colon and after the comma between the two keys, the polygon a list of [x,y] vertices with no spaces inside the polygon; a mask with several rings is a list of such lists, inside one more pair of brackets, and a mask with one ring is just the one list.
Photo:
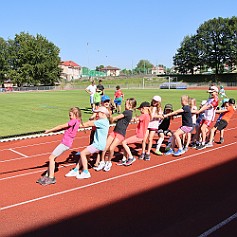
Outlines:
{"label": "child in white cap and light blue t-shirt, leaning back", "polygon": [[[77,163],[76,167],[72,169],[69,173],[67,173],[66,177],[76,177],[77,179],[88,179],[91,177],[90,172],[88,171],[88,162],[87,156],[90,154],[98,153],[103,151],[106,146],[106,139],[109,131],[109,111],[106,107],[101,106],[97,110],[94,111],[97,113],[98,119],[94,121],[88,121],[84,123],[83,128],[87,127],[96,127],[94,141],[91,145],[86,147],[80,153],[80,160]],[[82,166],[83,170],[79,173],[80,166]]]}

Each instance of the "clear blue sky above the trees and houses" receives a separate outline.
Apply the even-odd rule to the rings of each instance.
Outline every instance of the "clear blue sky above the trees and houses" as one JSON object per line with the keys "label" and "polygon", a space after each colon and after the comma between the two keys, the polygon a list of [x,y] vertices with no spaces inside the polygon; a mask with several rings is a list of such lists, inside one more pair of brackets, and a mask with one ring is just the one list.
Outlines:
{"label": "clear blue sky above the trees and houses", "polygon": [[237,15],[236,0],[0,0],[0,37],[42,35],[62,61],[133,69],[140,60],[173,65],[187,35]]}

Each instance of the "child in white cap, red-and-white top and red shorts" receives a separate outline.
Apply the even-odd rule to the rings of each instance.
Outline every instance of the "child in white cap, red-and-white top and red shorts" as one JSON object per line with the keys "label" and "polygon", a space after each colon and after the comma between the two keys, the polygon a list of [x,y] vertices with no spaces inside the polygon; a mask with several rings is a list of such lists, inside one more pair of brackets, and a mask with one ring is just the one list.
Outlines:
{"label": "child in white cap, red-and-white top and red shorts", "polygon": [[211,123],[215,119],[215,111],[218,106],[218,88],[216,86],[210,86],[207,92],[209,93],[210,98],[207,100],[207,103],[197,111],[197,114],[204,112],[204,117],[200,123],[202,143],[198,147],[196,147],[197,150],[202,150],[206,148],[206,137],[208,127],[210,127]]}

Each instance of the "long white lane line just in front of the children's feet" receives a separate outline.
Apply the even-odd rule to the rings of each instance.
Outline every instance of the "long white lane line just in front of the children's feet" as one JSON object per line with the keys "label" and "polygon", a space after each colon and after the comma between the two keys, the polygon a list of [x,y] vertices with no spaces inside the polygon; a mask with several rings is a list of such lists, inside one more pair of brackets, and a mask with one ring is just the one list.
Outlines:
{"label": "long white lane line just in front of the children's feet", "polygon": [[147,170],[151,170],[151,169],[154,169],[154,168],[157,168],[157,167],[161,167],[161,166],[172,164],[172,163],[175,163],[175,162],[178,162],[178,161],[189,159],[190,157],[198,156],[200,154],[208,153],[208,152],[211,152],[213,150],[222,149],[224,147],[231,146],[231,145],[234,145],[234,144],[237,144],[237,142],[233,142],[231,144],[228,144],[228,145],[225,145],[225,146],[221,146],[221,147],[218,147],[218,148],[215,148],[215,149],[212,149],[212,150],[206,150],[206,151],[203,151],[203,152],[200,152],[200,153],[196,153],[196,154],[192,154],[192,155],[189,155],[189,156],[181,157],[181,158],[178,158],[178,159],[175,159],[175,160],[167,161],[167,162],[164,162],[162,164],[157,164],[157,165],[150,166],[150,167],[147,167],[147,168],[143,168],[143,169],[140,169],[140,170],[135,170],[135,171],[132,171],[132,172],[128,172],[126,174],[121,174],[121,175],[118,175],[118,176],[114,176],[114,177],[111,177],[111,178],[108,178],[108,179],[104,179],[104,180],[101,180],[101,181],[97,181],[97,182],[94,182],[94,183],[91,183],[91,184],[87,184],[87,185],[84,185],[84,186],[81,186],[81,187],[72,188],[72,189],[61,191],[61,192],[49,194],[49,195],[46,195],[46,196],[30,199],[30,200],[27,200],[27,201],[24,201],[24,202],[20,202],[20,203],[12,204],[12,205],[9,205],[9,206],[1,207],[0,211],[7,210],[7,209],[10,209],[10,208],[13,208],[13,207],[22,206],[22,205],[25,205],[25,204],[28,204],[28,203],[40,201],[40,200],[43,200],[43,199],[46,199],[46,198],[55,197],[55,196],[62,195],[62,194],[65,194],[65,193],[77,191],[77,190],[80,190],[80,189],[92,187],[92,186],[95,186],[95,185],[98,185],[98,184],[101,184],[101,183],[105,183],[105,182],[108,182],[108,181],[111,181],[111,180],[127,177],[127,176],[130,176],[130,175],[133,175],[133,174],[141,173],[141,172],[144,172],[144,171],[147,171]]}

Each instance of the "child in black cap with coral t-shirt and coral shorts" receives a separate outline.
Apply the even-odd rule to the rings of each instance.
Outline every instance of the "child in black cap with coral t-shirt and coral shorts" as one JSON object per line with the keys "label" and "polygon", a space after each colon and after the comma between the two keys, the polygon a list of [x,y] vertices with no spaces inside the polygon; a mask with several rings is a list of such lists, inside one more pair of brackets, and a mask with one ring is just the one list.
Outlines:
{"label": "child in black cap with coral t-shirt and coral shorts", "polygon": [[134,122],[138,122],[137,128],[136,128],[136,135],[133,135],[133,136],[122,141],[122,145],[124,148],[124,158],[122,159],[122,161],[120,163],[125,166],[129,166],[134,161],[136,161],[136,158],[133,157],[128,144],[131,144],[131,143],[134,144],[134,143],[143,141],[145,134],[146,134],[146,130],[148,128],[148,124],[151,119],[150,103],[149,102],[146,102],[146,101],[142,102],[137,109],[140,110],[141,115],[134,119]]}

